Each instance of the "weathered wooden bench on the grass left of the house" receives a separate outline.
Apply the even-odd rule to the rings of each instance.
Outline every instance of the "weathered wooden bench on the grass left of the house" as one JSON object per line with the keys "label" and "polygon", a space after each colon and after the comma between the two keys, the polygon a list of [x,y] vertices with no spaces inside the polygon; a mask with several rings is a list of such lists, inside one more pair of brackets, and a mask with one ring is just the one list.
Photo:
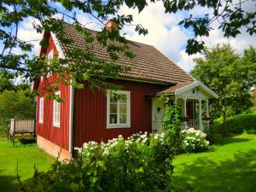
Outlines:
{"label": "weathered wooden bench on the grass left of the house", "polygon": [[31,137],[35,134],[34,119],[11,119],[9,126],[9,139],[14,143],[15,134],[31,134]]}

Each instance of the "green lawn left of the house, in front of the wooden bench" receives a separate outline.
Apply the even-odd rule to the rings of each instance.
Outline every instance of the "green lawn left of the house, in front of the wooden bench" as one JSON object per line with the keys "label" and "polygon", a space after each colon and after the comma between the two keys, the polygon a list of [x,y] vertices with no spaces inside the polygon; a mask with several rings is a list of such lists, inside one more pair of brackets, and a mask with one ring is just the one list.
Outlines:
{"label": "green lawn left of the house, in front of the wooden bench", "polygon": [[19,184],[16,179],[16,168],[21,181],[32,177],[34,165],[38,166],[39,172],[49,169],[54,158],[38,149],[37,144],[12,143],[5,138],[0,137],[0,191],[10,192],[18,191]]}

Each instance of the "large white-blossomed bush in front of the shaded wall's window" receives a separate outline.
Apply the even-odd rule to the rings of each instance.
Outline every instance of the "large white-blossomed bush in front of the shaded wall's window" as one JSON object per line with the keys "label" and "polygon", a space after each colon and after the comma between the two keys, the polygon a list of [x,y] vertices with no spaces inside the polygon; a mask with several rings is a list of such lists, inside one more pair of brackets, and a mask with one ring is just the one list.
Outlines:
{"label": "large white-blossomed bush in front of the shaded wall's window", "polygon": [[127,139],[119,136],[75,149],[101,191],[171,191],[174,155],[164,133],[138,132]]}

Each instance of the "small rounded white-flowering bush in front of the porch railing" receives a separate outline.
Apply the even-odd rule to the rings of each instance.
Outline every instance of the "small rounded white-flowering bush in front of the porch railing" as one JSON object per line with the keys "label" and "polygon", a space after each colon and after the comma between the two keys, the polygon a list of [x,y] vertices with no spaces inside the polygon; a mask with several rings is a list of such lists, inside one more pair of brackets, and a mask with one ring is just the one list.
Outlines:
{"label": "small rounded white-flowering bush in front of the porch railing", "polygon": [[202,152],[208,149],[209,142],[206,140],[207,134],[202,131],[189,128],[181,131],[181,148],[183,152]]}

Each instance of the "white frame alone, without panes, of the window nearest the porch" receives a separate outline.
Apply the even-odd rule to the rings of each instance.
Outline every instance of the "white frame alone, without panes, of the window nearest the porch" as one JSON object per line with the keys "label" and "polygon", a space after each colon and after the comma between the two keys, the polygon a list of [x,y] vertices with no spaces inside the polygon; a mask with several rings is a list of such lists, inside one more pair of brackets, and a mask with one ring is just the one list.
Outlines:
{"label": "white frame alone, without panes, of the window nearest the porch", "polygon": [[131,91],[127,90],[117,90],[115,91],[116,94],[125,94],[127,96],[127,122],[125,124],[119,123],[119,101],[118,101],[118,108],[117,108],[117,124],[111,124],[110,123],[110,95],[111,91],[108,90],[107,94],[107,129],[113,129],[113,128],[131,128]]}

